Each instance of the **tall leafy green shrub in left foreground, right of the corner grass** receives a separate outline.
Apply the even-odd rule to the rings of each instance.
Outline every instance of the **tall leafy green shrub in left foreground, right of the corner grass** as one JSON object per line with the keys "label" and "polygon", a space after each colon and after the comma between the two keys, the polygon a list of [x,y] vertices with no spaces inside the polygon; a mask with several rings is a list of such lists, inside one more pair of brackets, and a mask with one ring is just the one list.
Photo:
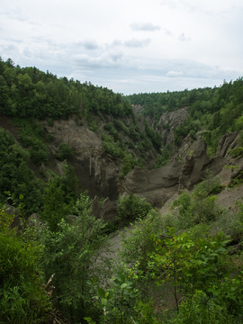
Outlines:
{"label": "tall leafy green shrub in left foreground, right of the corner grass", "polygon": [[[92,286],[94,277],[104,277],[103,259],[99,250],[106,238],[103,221],[91,215],[90,199],[84,194],[74,204],[74,216],[61,220],[55,231],[42,229],[40,241],[44,245],[42,259],[46,278],[56,274],[53,284],[55,303],[72,322],[79,322],[92,311]],[[103,267],[103,273],[101,268]]]}

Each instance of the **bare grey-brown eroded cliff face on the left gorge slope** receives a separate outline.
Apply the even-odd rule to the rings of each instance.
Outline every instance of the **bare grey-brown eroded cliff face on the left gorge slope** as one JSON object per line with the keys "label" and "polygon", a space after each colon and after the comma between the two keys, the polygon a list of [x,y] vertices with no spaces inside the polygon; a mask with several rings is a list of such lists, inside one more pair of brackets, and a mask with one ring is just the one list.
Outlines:
{"label": "bare grey-brown eroded cliff face on the left gorge slope", "polygon": [[46,130],[54,138],[50,150],[55,153],[60,143],[67,143],[75,151],[71,164],[77,178],[91,196],[109,196],[116,199],[118,164],[104,154],[102,139],[86,125],[77,125],[74,119],[54,121],[52,126],[45,124]]}

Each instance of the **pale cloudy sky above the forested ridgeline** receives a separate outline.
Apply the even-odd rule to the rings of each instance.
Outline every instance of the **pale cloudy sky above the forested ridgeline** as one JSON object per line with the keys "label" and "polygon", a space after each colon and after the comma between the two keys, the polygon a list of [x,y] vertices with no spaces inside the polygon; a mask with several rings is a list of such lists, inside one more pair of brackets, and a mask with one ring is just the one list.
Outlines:
{"label": "pale cloudy sky above the forested ridgeline", "polygon": [[243,76],[242,0],[1,0],[0,56],[121,94]]}

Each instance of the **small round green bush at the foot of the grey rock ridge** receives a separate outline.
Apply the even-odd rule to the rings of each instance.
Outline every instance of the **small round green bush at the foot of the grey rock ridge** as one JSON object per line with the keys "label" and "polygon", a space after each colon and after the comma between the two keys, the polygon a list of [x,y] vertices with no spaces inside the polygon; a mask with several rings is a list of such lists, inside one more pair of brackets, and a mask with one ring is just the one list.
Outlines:
{"label": "small round green bush at the foot of the grey rock ridge", "polygon": [[151,205],[144,198],[135,194],[120,198],[117,204],[117,212],[121,220],[136,220],[143,218],[151,210]]}

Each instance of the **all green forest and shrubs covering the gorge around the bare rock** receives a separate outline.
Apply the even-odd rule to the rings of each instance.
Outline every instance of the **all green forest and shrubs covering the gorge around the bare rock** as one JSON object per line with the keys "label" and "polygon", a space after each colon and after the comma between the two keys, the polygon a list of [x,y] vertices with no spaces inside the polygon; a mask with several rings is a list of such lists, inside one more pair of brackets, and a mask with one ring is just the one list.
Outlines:
{"label": "all green forest and shrubs covering the gorge around the bare rock", "polygon": [[[161,128],[172,124],[161,124],[161,116],[181,108],[188,114],[165,147]],[[218,193],[243,183],[242,111],[243,78],[122,96],[1,59],[0,323],[242,323],[243,202],[217,202]],[[50,149],[48,127],[70,119],[101,140],[119,181],[134,166],[178,159],[188,138],[200,136],[215,157],[229,132],[238,133],[238,143],[225,169],[238,169],[238,176],[221,184],[205,172],[163,215],[139,195],[120,195],[115,221],[104,221],[78,181],[75,149],[67,142]],[[102,205],[105,197],[98,198]],[[117,229],[120,253],[111,244]]]}

